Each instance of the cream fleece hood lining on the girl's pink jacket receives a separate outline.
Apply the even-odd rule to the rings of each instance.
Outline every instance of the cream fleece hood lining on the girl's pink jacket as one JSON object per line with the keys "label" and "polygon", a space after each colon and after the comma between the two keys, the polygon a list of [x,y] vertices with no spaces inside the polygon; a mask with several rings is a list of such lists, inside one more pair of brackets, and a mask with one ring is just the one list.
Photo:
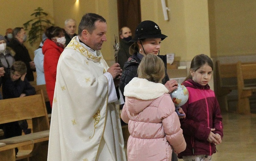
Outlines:
{"label": "cream fleece hood lining on the girl's pink jacket", "polygon": [[142,100],[155,99],[168,93],[168,89],[161,83],[150,82],[147,79],[134,77],[126,86],[124,95]]}

